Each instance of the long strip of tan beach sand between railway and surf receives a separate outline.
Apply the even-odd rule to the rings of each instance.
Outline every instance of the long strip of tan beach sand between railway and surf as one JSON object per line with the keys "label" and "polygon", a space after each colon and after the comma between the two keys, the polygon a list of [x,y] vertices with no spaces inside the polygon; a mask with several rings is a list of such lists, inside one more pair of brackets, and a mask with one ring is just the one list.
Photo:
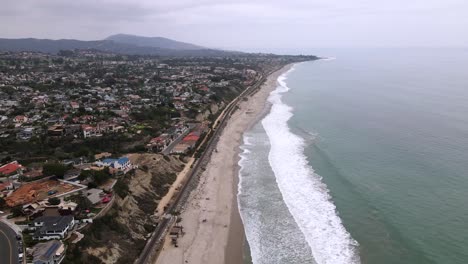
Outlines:
{"label": "long strip of tan beach sand between railway and surf", "polygon": [[286,66],[271,74],[261,89],[229,118],[198,187],[181,213],[184,236],[179,247],[166,238],[157,264],[241,264],[244,229],[237,206],[239,146],[242,135],[265,113],[266,100]]}

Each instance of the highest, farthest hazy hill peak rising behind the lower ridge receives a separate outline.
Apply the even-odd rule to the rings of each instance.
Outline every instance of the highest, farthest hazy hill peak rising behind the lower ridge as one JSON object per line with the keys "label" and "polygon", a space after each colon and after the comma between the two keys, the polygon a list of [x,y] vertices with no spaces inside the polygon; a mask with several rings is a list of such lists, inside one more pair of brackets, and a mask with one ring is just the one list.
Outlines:
{"label": "highest, farthest hazy hill peak rising behind the lower ridge", "polygon": [[140,47],[153,47],[162,49],[173,49],[173,50],[200,50],[206,49],[201,46],[193,45],[190,43],[175,41],[168,38],[162,37],[142,37],[127,34],[112,35],[106,40],[112,40],[117,43],[124,43],[129,45],[136,45]]}

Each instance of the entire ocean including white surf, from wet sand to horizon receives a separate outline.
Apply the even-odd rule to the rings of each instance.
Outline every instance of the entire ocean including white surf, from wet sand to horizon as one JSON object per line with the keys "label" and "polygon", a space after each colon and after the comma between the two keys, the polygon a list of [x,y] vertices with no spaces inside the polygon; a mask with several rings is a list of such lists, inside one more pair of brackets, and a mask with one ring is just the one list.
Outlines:
{"label": "entire ocean including white surf, from wet sand to horizon", "polygon": [[468,50],[326,53],[244,134],[249,262],[468,263]]}

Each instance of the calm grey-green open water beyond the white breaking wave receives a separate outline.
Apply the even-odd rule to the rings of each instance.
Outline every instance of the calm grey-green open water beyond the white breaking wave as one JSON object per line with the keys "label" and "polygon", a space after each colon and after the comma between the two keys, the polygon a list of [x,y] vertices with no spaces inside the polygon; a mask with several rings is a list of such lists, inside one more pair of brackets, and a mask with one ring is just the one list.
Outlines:
{"label": "calm grey-green open water beyond the white breaking wave", "polygon": [[290,73],[292,131],[362,263],[468,263],[468,52],[341,52]]}

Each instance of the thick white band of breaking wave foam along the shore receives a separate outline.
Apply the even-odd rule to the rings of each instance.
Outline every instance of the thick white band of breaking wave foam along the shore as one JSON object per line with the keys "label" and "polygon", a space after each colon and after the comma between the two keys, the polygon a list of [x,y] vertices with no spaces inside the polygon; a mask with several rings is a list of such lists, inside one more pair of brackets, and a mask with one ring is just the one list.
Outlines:
{"label": "thick white band of breaking wave foam along the shore", "polygon": [[304,234],[318,264],[359,263],[357,242],[345,230],[327,186],[314,173],[303,154],[305,142],[288,127],[292,108],[281,101],[289,90],[286,76],[270,94],[271,112],[262,120],[270,139],[268,156],[276,182],[295,222]]}

